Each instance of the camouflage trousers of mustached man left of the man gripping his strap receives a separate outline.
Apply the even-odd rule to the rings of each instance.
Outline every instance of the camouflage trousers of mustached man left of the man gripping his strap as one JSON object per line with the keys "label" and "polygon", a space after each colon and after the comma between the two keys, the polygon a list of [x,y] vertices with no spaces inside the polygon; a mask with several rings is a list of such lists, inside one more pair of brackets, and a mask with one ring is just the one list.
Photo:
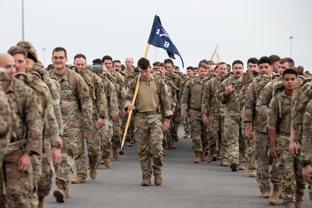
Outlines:
{"label": "camouflage trousers of mustached man left of the man gripping his strap", "polygon": [[220,161],[227,160],[228,155],[228,140],[224,136],[225,125],[224,117],[210,115],[208,117],[207,133],[208,133],[208,149],[210,154],[218,153],[218,131],[221,132],[220,145]]}

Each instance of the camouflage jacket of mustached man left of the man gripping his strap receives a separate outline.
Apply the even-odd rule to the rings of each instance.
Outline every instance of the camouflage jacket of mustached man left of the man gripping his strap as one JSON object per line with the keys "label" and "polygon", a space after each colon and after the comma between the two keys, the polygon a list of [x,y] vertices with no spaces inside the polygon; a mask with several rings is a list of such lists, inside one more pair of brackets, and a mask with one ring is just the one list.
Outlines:
{"label": "camouflage jacket of mustached man left of the man gripping his strap", "polygon": [[223,117],[225,104],[217,97],[217,90],[220,80],[214,77],[208,80],[203,86],[202,94],[202,114],[207,114],[216,117]]}

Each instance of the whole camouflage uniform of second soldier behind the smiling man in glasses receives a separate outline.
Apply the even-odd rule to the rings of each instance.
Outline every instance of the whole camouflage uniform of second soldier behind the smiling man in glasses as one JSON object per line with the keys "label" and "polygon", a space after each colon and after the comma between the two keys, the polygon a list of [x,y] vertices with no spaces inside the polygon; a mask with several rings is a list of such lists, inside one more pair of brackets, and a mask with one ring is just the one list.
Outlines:
{"label": "whole camouflage uniform of second soldier behind the smiling man in glasses", "polygon": [[[109,74],[106,74],[109,75]],[[117,94],[115,90],[115,86],[113,83],[105,76],[101,75],[102,84],[104,86],[104,92],[106,96],[106,110],[107,116],[105,117],[105,123],[103,128],[100,129],[101,132],[101,153],[99,155],[100,159],[107,159],[110,157],[112,150],[111,140],[113,138],[113,122],[110,119],[111,116],[118,116],[117,112]]]}

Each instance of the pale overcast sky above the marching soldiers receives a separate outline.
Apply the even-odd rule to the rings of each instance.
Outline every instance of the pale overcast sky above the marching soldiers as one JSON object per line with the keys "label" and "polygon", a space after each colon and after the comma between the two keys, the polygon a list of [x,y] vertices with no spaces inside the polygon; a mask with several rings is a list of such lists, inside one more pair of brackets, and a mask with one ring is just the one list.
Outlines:
{"label": "pale overcast sky above the marching soldiers", "polygon": [[[310,0],[24,0],[24,40],[32,42],[45,67],[55,47],[66,49],[68,64],[82,53],[87,64],[110,55],[122,64],[132,56],[136,66],[144,57],[157,7],[184,69],[178,56],[173,62],[184,73],[188,66],[209,60],[218,43],[222,61],[232,65],[241,60],[244,71],[251,57],[285,58],[291,52],[295,66],[312,72]],[[4,53],[22,40],[22,0],[1,0],[0,8]],[[162,48],[149,47],[151,64],[166,58]]]}

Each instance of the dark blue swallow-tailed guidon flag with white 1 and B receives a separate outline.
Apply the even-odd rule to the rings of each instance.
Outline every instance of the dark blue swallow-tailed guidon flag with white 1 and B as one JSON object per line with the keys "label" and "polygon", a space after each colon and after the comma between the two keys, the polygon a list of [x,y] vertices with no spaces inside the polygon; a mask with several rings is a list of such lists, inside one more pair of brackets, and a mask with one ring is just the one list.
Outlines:
{"label": "dark blue swallow-tailed guidon flag with white 1 and B", "polygon": [[176,59],[174,57],[174,54],[180,56],[184,68],[183,59],[177,47],[173,44],[168,33],[163,29],[163,26],[161,26],[160,18],[157,15],[155,15],[153,27],[151,30],[151,34],[149,35],[149,41],[147,43],[155,47],[165,49],[170,58]]}

